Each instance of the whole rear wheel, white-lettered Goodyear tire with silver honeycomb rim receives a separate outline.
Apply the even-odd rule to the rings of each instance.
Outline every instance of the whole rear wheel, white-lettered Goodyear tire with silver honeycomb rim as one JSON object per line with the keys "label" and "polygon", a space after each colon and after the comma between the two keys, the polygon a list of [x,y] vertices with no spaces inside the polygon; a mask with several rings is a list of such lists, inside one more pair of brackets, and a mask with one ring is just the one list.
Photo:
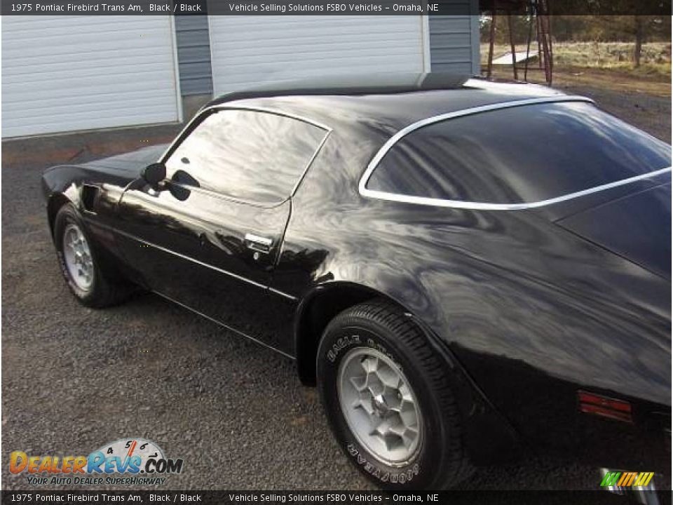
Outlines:
{"label": "whole rear wheel, white-lettered Goodyear tire with silver honeycomb rim", "polygon": [[395,305],[366,302],[334,318],[317,368],[332,431],[374,483],[442,489],[469,476],[447,365]]}

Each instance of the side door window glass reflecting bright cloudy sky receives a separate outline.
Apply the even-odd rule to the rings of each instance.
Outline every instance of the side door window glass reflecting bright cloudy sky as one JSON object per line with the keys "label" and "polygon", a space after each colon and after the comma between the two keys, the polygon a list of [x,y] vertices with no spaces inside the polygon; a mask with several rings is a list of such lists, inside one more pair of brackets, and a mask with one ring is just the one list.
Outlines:
{"label": "side door window glass reflecting bright cloudy sky", "polygon": [[167,176],[250,203],[287,199],[327,130],[269,112],[219,109],[166,161]]}

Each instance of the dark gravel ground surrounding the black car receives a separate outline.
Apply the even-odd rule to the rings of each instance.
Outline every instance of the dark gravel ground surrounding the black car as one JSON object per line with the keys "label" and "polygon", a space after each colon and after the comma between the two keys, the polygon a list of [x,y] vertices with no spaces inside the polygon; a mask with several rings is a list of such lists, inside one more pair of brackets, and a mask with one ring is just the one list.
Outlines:
{"label": "dark gravel ground surrounding the black car", "polygon": [[[623,115],[637,121],[633,100],[613,105],[620,102]],[[659,136],[667,131],[669,138],[670,101],[665,108],[658,105],[655,122]],[[8,472],[11,451],[88,454],[131,436],[184,459],[183,473],[164,489],[367,489],[292,361],[153,295],[95,311],[67,291],[46,227],[42,170],[163,141],[174,129],[3,144],[3,489],[29,488],[25,476]],[[462,487],[596,489],[597,483],[595,469],[536,457],[482,469]]]}

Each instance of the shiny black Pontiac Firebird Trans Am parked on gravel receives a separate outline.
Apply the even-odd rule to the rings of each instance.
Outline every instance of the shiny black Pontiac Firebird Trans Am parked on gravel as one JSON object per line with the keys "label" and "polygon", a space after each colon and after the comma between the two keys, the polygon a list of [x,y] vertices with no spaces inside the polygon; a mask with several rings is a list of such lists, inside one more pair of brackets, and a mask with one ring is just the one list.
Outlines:
{"label": "shiny black Pontiac Firebird Trans Am parked on gravel", "polygon": [[88,307],[156,292],[293,358],[393,489],[524,450],[670,471],[671,147],[450,76],[230,93],[43,175]]}

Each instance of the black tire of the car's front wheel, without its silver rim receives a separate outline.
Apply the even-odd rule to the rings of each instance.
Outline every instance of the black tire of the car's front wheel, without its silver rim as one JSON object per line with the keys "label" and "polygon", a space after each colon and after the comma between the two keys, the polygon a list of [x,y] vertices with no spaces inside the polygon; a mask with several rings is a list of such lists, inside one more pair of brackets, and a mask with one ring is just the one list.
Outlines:
{"label": "black tire of the car's front wheel, without its silver rim", "polygon": [[[74,224],[88,242],[93,262],[93,278],[90,286],[84,289],[73,278],[64,257],[64,232],[70,224]],[[102,308],[116,305],[130,295],[132,286],[121,279],[116,272],[106,268],[97,255],[95,245],[88,234],[79,212],[72,203],[66,203],[58,211],[54,220],[54,243],[61,273],[75,298],[86,307]],[[114,279],[114,281],[113,281]]]}

